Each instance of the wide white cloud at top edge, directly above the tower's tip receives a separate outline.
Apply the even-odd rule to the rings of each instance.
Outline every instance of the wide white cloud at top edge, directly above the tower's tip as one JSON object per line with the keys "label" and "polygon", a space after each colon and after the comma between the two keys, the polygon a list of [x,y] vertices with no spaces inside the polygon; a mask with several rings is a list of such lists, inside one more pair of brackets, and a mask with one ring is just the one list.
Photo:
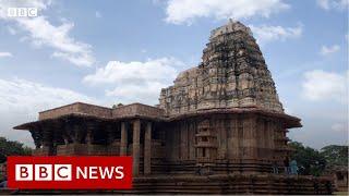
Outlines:
{"label": "wide white cloud at top edge, directly above the tower's tip", "polygon": [[190,25],[197,17],[217,20],[268,17],[273,13],[289,9],[282,0],[169,0],[165,21]]}

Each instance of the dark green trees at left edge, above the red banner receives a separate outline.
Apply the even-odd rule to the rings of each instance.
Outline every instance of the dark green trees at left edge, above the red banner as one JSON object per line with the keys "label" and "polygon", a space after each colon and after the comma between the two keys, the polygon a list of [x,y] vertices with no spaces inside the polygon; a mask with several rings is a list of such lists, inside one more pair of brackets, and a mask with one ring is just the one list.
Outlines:
{"label": "dark green trees at left edge, above the red banner", "polygon": [[22,143],[0,137],[0,163],[5,162],[8,156],[27,155],[32,155],[32,148],[23,146]]}

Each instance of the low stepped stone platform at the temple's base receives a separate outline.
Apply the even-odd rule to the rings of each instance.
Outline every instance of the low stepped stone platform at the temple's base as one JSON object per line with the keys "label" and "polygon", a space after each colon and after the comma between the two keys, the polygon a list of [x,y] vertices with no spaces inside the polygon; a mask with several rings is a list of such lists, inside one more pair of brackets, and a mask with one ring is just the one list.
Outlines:
{"label": "low stepped stone platform at the temple's base", "polygon": [[329,195],[330,177],[221,174],[135,177],[131,191],[20,191],[19,194],[268,194]]}

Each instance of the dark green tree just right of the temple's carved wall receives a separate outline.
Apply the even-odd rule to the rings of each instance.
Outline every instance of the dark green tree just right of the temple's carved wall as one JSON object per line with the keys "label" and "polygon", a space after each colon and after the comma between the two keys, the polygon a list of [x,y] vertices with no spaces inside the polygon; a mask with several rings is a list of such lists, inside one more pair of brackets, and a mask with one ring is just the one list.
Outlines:
{"label": "dark green tree just right of the temple's carved wall", "polygon": [[298,142],[291,142],[289,146],[293,149],[290,158],[297,161],[300,174],[318,176],[324,172],[326,159],[320,151]]}

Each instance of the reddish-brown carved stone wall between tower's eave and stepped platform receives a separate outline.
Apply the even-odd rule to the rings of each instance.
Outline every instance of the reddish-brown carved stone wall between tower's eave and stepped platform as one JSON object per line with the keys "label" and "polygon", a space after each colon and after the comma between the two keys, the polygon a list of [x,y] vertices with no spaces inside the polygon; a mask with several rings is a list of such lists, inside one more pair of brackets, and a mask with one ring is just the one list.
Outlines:
{"label": "reddish-brown carved stone wall between tower's eave and stepped platform", "polygon": [[272,172],[272,163],[282,166],[288,156],[287,140],[277,119],[251,113],[213,114],[168,125],[166,159],[172,173],[192,173],[197,166],[210,166],[218,173]]}

